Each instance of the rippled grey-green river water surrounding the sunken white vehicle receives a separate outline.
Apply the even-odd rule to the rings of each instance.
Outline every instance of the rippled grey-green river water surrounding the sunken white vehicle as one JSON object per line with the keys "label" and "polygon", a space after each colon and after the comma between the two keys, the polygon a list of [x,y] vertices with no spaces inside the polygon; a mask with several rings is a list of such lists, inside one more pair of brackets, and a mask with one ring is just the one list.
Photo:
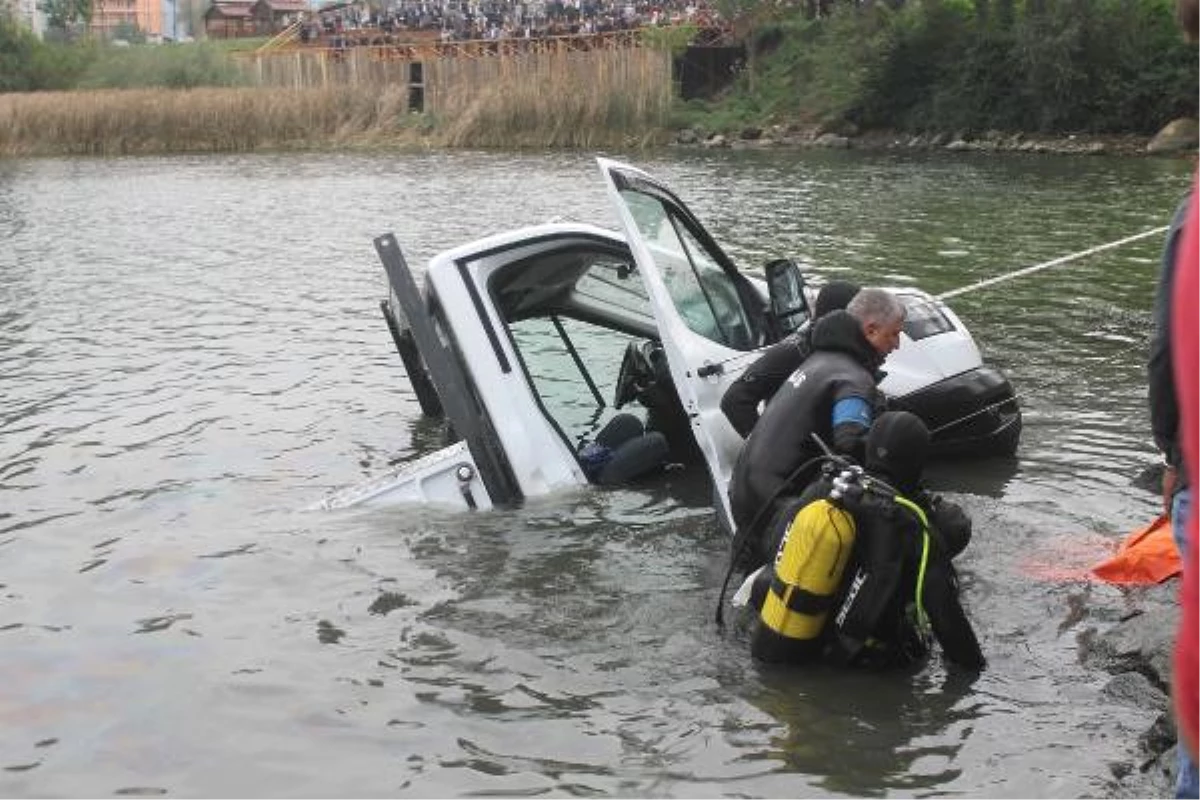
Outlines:
{"label": "rippled grey-green river water surrounding the sunken white vehicle", "polygon": [[[620,157],[620,154],[611,154]],[[743,265],[944,291],[1165,224],[1183,162],[668,152]],[[974,518],[989,668],[766,670],[712,622],[683,477],[470,516],[306,510],[438,445],[378,302],[409,261],[616,224],[587,154],[0,162],[0,796],[1103,796],[1151,709],[1103,699],[1084,579],[1156,512],[1162,237],[952,306],[1021,395]]]}

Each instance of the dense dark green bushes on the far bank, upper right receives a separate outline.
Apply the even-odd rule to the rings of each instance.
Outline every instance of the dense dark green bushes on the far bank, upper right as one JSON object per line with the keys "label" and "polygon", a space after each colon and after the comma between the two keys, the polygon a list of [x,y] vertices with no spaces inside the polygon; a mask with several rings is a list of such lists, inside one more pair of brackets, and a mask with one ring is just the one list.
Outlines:
{"label": "dense dark green bushes on the far bank, upper right", "polygon": [[802,5],[770,34],[712,121],[1150,133],[1200,112],[1200,47],[1174,0],[847,1],[821,19]]}

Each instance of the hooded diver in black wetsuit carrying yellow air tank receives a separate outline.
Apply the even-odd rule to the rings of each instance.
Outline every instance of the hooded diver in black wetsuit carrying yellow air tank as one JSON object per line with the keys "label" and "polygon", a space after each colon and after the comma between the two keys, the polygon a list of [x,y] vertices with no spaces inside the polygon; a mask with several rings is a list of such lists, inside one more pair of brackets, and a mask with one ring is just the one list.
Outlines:
{"label": "hooded diver in black wetsuit carrying yellow air tank", "polygon": [[[850,543],[852,549],[848,563],[836,565],[832,555],[822,563],[816,548],[793,554],[798,557],[793,563],[804,567],[791,576],[794,583],[788,593],[788,582],[775,573],[781,561],[786,565],[782,557],[788,545],[786,540],[773,542],[780,558],[755,578],[751,593],[751,604],[760,610],[751,639],[755,657],[766,662],[824,658],[854,666],[900,666],[928,655],[931,633],[947,661],[983,669],[984,656],[959,601],[952,564],[971,540],[971,519],[958,505],[920,486],[929,439],[920,417],[888,411],[871,426],[865,471],[856,473],[851,486],[833,493],[836,470],[829,471],[794,504],[804,509],[803,515],[835,494],[834,505],[815,516],[816,524],[826,525],[822,536]],[[788,536],[797,533],[793,524]],[[833,597],[802,589],[834,566],[840,579]],[[763,612],[772,602],[781,613]]]}

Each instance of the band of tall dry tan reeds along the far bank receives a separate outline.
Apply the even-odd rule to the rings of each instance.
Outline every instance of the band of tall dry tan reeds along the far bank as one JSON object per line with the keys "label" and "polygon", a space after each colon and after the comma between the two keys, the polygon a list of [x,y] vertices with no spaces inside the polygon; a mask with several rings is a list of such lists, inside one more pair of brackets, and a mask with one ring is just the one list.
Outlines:
{"label": "band of tall dry tan reeds along the far bank", "polygon": [[391,71],[347,83],[324,72],[311,85],[318,73],[294,62],[302,74],[276,79],[310,88],[0,95],[0,156],[630,145],[648,142],[671,102],[670,56],[643,48],[426,61],[422,115]]}

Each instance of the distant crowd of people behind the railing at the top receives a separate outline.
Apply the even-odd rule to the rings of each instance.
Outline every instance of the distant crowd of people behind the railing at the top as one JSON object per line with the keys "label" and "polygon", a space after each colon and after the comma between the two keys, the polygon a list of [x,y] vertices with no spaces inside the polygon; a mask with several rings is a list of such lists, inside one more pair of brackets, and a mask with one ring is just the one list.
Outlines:
{"label": "distant crowd of people behind the railing at the top", "polygon": [[302,43],[379,46],[416,37],[454,42],[542,38],[691,23],[715,26],[709,0],[484,0],[402,2],[376,10],[346,4],[317,12],[300,26]]}

